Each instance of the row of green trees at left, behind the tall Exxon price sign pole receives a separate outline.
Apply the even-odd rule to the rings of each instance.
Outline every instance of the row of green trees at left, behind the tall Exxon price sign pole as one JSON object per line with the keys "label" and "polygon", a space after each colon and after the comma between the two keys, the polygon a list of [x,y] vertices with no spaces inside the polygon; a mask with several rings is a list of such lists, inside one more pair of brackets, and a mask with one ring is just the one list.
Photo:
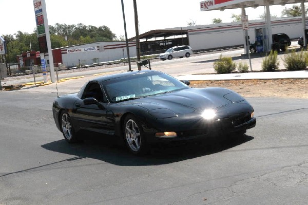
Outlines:
{"label": "row of green trees at left, behind the tall Exxon price sign pole", "polygon": [[[54,26],[49,26],[49,30],[51,48],[117,40],[117,36],[107,26],[55,24]],[[7,44],[7,62],[17,62],[16,55],[20,55],[23,52],[40,50],[36,29],[32,33],[17,31],[14,35],[8,34],[3,35],[3,37]]]}

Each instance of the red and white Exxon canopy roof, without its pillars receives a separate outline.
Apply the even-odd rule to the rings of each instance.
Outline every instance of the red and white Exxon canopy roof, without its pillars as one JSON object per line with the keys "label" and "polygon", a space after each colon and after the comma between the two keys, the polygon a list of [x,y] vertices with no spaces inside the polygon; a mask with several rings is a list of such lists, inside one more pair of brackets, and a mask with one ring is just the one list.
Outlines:
{"label": "red and white Exxon canopy roof, without its pillars", "polygon": [[201,11],[238,9],[269,5],[286,5],[305,2],[303,0],[208,0],[200,2]]}

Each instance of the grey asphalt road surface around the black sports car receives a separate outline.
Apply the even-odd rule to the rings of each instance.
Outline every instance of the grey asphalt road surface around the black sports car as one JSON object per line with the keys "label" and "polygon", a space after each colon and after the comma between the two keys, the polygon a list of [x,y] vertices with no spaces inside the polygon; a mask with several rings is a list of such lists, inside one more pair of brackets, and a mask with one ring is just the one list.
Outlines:
{"label": "grey asphalt road surface around the black sports car", "polygon": [[[200,73],[207,71],[202,63],[211,61],[207,57],[217,58],[159,61],[153,69]],[[112,69],[101,73],[127,68]],[[100,71],[59,83],[60,94],[79,90]],[[102,136],[68,144],[54,124],[54,98],[54,83],[0,92],[1,205],[301,205],[308,200],[307,99],[247,98],[257,125],[246,135],[157,146],[136,157]]]}

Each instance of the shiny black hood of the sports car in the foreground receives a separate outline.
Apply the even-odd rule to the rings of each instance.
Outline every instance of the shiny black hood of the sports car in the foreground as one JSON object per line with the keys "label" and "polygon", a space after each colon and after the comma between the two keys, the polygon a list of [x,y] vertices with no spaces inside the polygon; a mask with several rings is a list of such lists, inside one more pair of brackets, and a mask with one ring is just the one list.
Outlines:
{"label": "shiny black hood of the sports car in the foreground", "polygon": [[175,114],[192,113],[199,109],[210,109],[244,99],[225,88],[189,88],[156,96],[126,101],[148,111],[163,110]]}

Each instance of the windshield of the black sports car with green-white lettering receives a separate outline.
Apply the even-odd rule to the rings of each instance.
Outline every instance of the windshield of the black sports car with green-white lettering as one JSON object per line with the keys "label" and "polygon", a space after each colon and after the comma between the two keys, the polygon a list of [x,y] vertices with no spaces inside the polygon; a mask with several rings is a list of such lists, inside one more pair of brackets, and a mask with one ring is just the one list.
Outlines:
{"label": "windshield of the black sports car with green-white lettering", "polygon": [[162,95],[189,88],[181,81],[161,72],[137,73],[102,82],[111,102]]}

